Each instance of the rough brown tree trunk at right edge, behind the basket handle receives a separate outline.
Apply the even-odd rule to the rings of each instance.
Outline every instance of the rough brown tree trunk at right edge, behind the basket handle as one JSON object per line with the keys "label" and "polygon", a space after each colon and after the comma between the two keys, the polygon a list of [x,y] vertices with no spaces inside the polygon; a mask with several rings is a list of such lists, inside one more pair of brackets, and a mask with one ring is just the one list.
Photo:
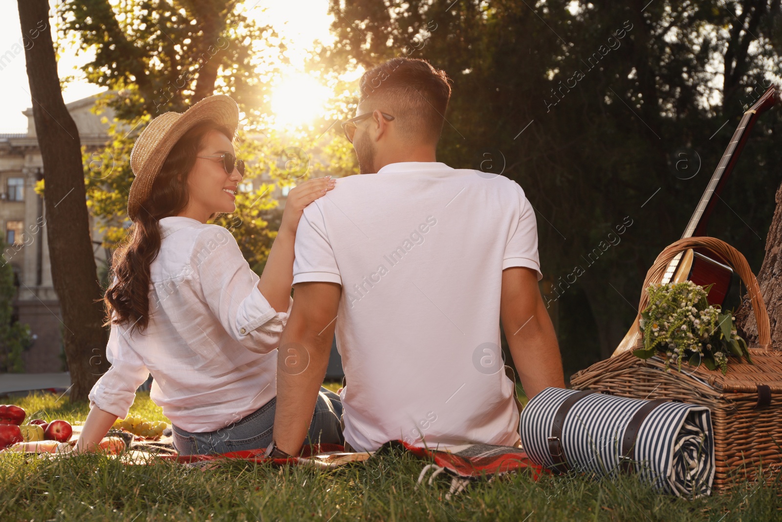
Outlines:
{"label": "rough brown tree trunk at right edge, behind the basket handle", "polygon": [[[766,236],[766,257],[758,272],[758,284],[766,310],[769,312],[771,323],[771,343],[782,347],[782,185],[777,189],[777,208],[771,218],[769,235]],[[755,314],[752,312],[749,296],[744,295],[741,307],[736,312],[736,323],[744,331],[747,342],[758,342],[758,325],[755,322]]]}

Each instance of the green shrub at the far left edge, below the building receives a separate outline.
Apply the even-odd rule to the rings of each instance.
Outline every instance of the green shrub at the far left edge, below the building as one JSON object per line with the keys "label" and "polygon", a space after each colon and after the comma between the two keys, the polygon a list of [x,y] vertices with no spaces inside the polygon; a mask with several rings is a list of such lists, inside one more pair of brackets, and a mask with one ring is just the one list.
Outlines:
{"label": "green shrub at the far left edge, below the building", "polygon": [[[0,239],[0,252],[5,252],[7,247]],[[0,373],[23,373],[22,352],[33,342],[30,326],[13,320],[15,298],[13,267],[0,260]]]}

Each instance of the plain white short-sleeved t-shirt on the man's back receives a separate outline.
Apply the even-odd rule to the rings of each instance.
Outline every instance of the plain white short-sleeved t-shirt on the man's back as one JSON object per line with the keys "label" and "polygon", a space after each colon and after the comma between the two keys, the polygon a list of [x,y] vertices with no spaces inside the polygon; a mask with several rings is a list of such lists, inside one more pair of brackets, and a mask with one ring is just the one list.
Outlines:
{"label": "plain white short-sleeved t-shirt on the man's back", "polygon": [[389,164],[337,179],[304,209],[293,283],[342,285],[336,339],[353,448],[518,440],[499,348],[502,271],[514,266],[542,278],[533,208],[504,176]]}

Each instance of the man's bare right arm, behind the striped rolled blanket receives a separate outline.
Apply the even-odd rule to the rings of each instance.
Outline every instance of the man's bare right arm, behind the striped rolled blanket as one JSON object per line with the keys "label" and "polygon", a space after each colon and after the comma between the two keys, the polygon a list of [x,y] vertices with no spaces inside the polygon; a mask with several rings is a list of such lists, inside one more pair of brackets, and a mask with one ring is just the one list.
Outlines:
{"label": "man's bare right arm, behind the striped rolled blanket", "polygon": [[554,325],[532,268],[511,267],[502,272],[500,317],[527,397],[533,398],[546,387],[564,388]]}

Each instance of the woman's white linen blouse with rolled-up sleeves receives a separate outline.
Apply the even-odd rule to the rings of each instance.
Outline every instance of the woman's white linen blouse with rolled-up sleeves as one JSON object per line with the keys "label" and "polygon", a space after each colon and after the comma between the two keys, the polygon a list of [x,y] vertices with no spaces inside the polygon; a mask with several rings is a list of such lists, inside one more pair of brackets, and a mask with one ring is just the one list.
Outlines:
{"label": "woman's white linen blouse with rolled-up sleeves", "polygon": [[293,299],[285,312],[271,308],[224,227],[171,216],[160,219],[160,232],[148,326],[132,336],[130,324],[111,326],[111,367],[90,406],[124,419],[151,373],[150,397],[177,427],[228,427],[276,395],[277,347]]}

